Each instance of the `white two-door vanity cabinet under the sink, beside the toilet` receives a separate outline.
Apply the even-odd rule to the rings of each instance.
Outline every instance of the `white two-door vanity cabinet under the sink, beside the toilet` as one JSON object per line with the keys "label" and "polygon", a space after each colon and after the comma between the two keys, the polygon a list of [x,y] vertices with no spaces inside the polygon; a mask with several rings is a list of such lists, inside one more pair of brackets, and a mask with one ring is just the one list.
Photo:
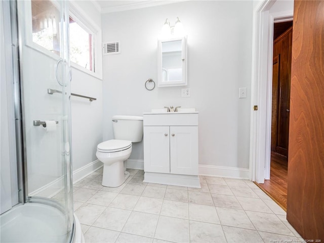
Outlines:
{"label": "white two-door vanity cabinet under the sink, beside the toilet", "polygon": [[198,113],[144,113],[144,181],[200,187]]}

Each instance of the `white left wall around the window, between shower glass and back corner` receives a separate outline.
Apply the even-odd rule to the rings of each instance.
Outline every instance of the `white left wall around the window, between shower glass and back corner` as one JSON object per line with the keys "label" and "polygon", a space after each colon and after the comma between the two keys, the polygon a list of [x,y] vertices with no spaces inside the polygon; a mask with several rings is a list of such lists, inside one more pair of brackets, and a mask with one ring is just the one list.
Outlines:
{"label": "white left wall around the window, between shower glass and back corner", "polygon": [[[100,13],[91,1],[73,1],[73,4],[101,29]],[[96,48],[99,48],[101,55],[101,46]],[[102,68],[99,63],[95,68],[101,73],[98,70]],[[71,93],[97,98],[89,102],[87,99],[71,97],[72,160],[75,171],[97,160],[97,145],[102,142],[102,80],[72,67]]]}

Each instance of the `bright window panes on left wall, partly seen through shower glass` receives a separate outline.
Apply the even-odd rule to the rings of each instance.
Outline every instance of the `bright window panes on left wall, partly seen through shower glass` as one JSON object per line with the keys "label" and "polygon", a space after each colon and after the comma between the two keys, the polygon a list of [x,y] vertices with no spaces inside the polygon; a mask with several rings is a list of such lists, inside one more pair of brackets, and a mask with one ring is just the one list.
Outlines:
{"label": "bright window panes on left wall, partly seen through shower glass", "polygon": [[[60,15],[51,1],[31,0],[32,42],[60,55]],[[69,16],[70,61],[94,72],[94,33]]]}

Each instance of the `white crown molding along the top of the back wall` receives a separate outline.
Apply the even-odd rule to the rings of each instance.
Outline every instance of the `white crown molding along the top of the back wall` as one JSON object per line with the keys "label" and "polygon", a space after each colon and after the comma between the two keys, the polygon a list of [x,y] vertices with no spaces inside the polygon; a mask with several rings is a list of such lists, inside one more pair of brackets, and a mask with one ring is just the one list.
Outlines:
{"label": "white crown molding along the top of the back wall", "polygon": [[147,0],[147,1],[135,2],[131,4],[124,4],[124,5],[114,6],[114,7],[101,8],[101,13],[106,14],[106,13],[121,12],[121,11],[134,10],[134,9],[143,9],[143,8],[160,6],[160,5],[175,4],[175,3],[185,2],[185,1],[188,0],[159,0],[159,1]]}

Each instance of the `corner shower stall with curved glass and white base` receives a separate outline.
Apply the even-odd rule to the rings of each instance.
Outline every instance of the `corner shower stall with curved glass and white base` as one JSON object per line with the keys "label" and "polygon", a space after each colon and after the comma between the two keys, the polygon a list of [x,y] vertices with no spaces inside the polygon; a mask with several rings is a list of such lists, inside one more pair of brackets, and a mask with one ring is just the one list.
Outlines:
{"label": "corner shower stall with curved glass and white base", "polygon": [[1,242],[83,241],[73,215],[67,4],[0,1]]}

